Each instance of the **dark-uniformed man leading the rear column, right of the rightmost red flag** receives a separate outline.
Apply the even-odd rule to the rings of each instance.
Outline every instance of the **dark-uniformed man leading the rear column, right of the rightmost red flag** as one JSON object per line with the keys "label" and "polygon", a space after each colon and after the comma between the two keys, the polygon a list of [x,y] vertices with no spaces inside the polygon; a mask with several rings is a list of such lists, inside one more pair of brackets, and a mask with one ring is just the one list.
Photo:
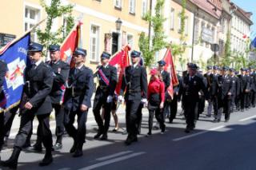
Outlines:
{"label": "dark-uniformed man leading the rear column, right of the rightmost red flag", "polygon": [[186,77],[183,77],[181,85],[184,114],[186,115],[185,132],[190,132],[190,130],[195,128],[195,111],[197,102],[199,101],[198,92],[202,90],[204,94],[207,94],[206,85],[203,83],[202,78],[196,75],[197,69],[197,65],[190,64],[189,74]]}

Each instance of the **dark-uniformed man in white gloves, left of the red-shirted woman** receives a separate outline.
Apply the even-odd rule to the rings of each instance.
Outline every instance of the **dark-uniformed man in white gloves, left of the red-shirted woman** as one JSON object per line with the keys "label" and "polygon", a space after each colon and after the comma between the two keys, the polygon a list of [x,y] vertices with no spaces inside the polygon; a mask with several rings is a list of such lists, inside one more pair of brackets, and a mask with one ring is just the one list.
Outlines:
{"label": "dark-uniformed man in white gloves, left of the red-shirted woman", "polygon": [[143,105],[147,104],[146,69],[138,65],[140,56],[141,53],[135,50],[130,53],[132,65],[126,67],[122,89],[118,97],[118,101],[123,101],[122,94],[126,92],[126,129],[128,136],[125,143],[127,145],[138,140],[138,115],[141,114],[138,112],[141,112],[141,102]]}

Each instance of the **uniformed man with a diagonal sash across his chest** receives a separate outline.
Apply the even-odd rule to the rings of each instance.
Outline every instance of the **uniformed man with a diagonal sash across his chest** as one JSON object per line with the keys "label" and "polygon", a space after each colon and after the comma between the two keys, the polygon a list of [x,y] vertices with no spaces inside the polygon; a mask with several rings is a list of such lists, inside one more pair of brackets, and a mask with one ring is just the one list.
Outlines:
{"label": "uniformed man with a diagonal sash across his chest", "polygon": [[[109,65],[110,53],[103,52],[101,55],[102,65],[98,68],[99,85],[94,97],[94,118],[98,124],[98,133],[94,139],[107,140],[107,131],[110,127],[110,112],[113,104],[114,89],[117,85],[117,69]],[[104,123],[100,110],[104,108]]]}

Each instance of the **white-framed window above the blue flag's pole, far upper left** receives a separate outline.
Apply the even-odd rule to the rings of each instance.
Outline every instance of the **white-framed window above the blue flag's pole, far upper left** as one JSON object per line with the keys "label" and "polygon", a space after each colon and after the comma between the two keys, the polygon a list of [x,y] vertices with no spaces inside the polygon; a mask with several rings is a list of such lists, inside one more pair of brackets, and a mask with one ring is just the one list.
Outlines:
{"label": "white-framed window above the blue flag's pole, far upper left", "polygon": [[[25,31],[30,30],[35,26],[40,19],[40,12],[38,9],[32,8],[30,6],[25,7],[25,20],[24,28]],[[37,40],[37,35],[34,32],[31,32],[31,41],[35,42]]]}

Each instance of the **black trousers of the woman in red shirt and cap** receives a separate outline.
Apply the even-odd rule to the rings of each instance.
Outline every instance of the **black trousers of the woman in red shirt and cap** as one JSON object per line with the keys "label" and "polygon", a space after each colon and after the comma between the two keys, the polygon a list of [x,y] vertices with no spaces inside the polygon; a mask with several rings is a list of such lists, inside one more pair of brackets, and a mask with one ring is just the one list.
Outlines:
{"label": "black trousers of the woman in red shirt and cap", "polygon": [[165,129],[165,124],[164,124],[165,116],[163,113],[163,109],[160,109],[159,105],[158,106],[150,106],[149,105],[149,132],[151,133],[151,131],[152,131],[154,115],[160,125],[160,128],[162,129],[162,132],[163,132]]}

